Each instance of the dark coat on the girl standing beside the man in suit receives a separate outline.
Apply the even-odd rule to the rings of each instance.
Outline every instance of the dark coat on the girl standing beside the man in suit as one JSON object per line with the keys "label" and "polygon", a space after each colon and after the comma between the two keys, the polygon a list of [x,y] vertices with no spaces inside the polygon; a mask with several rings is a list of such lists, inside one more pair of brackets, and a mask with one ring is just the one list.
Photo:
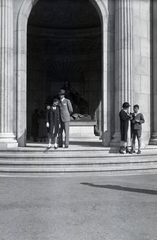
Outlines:
{"label": "dark coat on the girl standing beside the man in suit", "polygon": [[49,122],[48,133],[54,134],[55,136],[59,133],[60,120],[59,106],[57,106],[55,110],[50,108],[46,111],[46,122]]}

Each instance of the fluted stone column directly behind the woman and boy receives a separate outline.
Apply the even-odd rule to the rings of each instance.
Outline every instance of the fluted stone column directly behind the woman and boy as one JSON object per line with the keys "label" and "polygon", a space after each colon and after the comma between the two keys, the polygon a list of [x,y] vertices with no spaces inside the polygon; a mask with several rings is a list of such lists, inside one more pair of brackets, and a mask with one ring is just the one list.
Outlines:
{"label": "fluted stone column directly behind the woman and boy", "polygon": [[[119,111],[123,102],[133,103],[131,0],[115,1],[115,133],[111,146],[119,146]],[[128,131],[130,133],[130,131]]]}

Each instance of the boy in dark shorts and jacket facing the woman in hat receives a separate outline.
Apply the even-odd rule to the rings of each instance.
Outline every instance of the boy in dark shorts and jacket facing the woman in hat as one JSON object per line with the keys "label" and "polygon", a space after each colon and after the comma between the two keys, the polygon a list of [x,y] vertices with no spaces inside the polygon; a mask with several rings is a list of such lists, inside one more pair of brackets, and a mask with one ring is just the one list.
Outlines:
{"label": "boy in dark shorts and jacket facing the woman in hat", "polygon": [[131,153],[135,153],[135,140],[138,140],[138,151],[137,154],[141,153],[141,134],[142,134],[142,123],[145,122],[143,114],[139,112],[139,105],[134,105],[134,112],[132,114],[131,121],[131,135],[132,135],[132,150]]}

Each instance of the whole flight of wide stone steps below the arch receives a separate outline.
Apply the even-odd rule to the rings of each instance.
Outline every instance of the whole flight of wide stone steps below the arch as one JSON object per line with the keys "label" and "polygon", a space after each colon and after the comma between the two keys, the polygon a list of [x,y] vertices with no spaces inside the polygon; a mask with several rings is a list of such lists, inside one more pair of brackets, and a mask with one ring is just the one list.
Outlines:
{"label": "whole flight of wide stone steps below the arch", "polygon": [[142,149],[140,155],[119,154],[117,148],[106,148],[96,143],[90,143],[90,146],[76,143],[68,149],[57,150],[48,150],[46,146],[29,144],[25,148],[1,150],[0,174],[45,177],[157,172],[157,148],[153,146]]}

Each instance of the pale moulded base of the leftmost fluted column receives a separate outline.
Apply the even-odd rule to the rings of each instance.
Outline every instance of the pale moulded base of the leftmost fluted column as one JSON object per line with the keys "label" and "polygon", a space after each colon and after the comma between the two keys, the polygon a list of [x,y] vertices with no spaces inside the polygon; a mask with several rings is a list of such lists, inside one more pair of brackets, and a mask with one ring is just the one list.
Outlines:
{"label": "pale moulded base of the leftmost fluted column", "polygon": [[0,133],[0,149],[15,147],[18,147],[18,143],[13,133]]}

